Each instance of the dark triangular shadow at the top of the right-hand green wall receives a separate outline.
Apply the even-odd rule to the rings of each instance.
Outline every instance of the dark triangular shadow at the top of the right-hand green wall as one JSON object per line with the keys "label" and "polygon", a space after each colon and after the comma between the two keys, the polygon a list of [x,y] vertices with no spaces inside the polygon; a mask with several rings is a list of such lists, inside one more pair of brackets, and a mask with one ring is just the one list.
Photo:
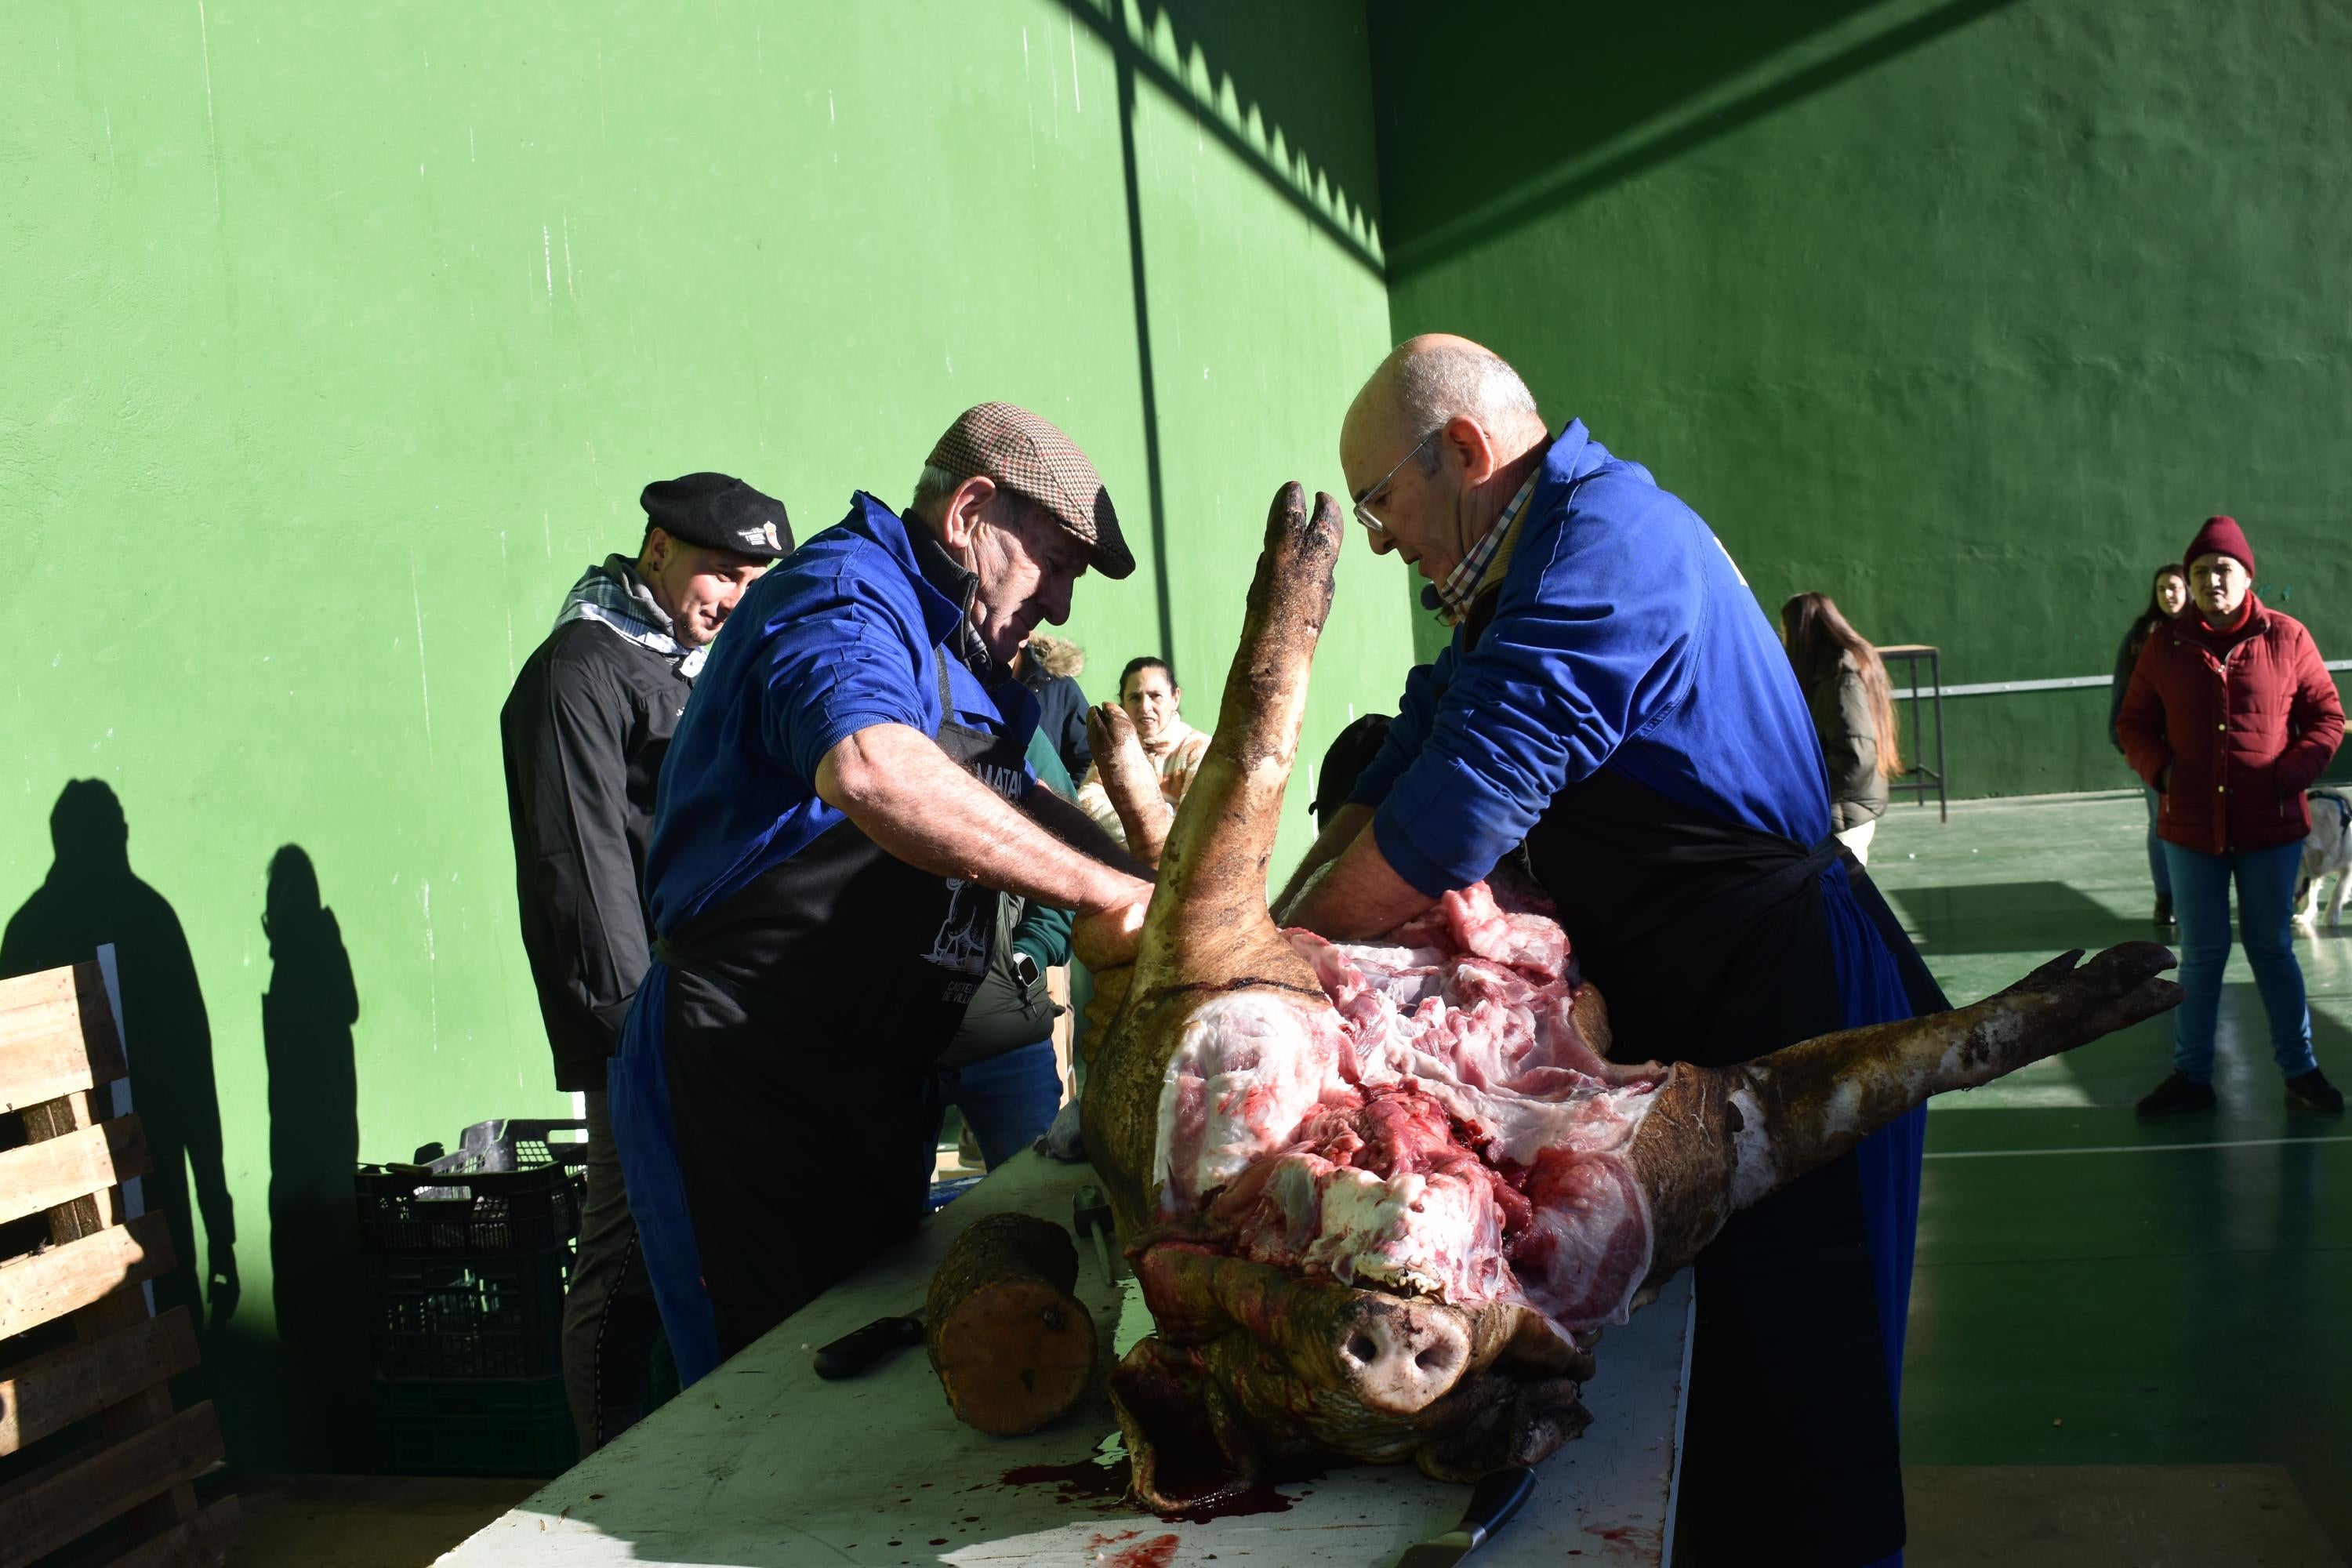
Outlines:
{"label": "dark triangular shadow at the top of the right-hand green wall", "polygon": [[[1388,275],[1439,266],[2011,2],[1472,0],[1449,7],[1439,26],[1418,5],[1376,0]],[[1501,38],[1510,47],[1496,47]],[[1748,80],[1780,54],[1792,59]],[[1416,82],[1456,87],[1432,94]],[[1477,82],[1477,94],[1465,96],[1461,82]]]}

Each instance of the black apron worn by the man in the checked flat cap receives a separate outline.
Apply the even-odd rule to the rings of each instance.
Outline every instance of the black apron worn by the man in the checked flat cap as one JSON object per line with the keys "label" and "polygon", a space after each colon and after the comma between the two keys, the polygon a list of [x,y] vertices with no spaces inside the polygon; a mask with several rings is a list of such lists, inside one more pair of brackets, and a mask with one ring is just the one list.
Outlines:
{"label": "black apron worn by the man in the checked flat cap", "polygon": [[[1025,748],[957,724],[936,661],[938,748],[1014,799]],[[997,893],[842,820],[663,938],[670,1124],[720,1356],[922,1220],[931,1063],[995,924]]]}

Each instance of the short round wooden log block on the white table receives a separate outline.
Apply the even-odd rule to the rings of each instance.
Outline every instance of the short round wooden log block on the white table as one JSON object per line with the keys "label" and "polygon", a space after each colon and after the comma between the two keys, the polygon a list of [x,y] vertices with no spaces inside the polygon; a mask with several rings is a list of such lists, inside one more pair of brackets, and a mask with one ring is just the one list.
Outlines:
{"label": "short round wooden log block on the white table", "polygon": [[976,1220],[931,1276],[924,1338],[948,1408],[1009,1436],[1068,1415],[1094,1380],[1094,1319],[1070,1291],[1070,1232],[1025,1213]]}

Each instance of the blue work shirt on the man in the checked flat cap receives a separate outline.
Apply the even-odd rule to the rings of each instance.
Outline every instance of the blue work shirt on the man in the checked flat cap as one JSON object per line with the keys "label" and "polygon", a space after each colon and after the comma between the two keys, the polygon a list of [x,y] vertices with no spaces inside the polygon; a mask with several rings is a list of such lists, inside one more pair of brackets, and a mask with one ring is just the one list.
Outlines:
{"label": "blue work shirt on the man in the checked flat cap", "polygon": [[[875,724],[938,729],[936,651],[962,618],[924,581],[908,524],[866,491],[743,590],[661,764],[644,853],[654,931],[680,931],[842,820],[816,797],[835,745]],[[948,679],[960,724],[1037,724],[1018,682],[990,696],[953,656]]]}

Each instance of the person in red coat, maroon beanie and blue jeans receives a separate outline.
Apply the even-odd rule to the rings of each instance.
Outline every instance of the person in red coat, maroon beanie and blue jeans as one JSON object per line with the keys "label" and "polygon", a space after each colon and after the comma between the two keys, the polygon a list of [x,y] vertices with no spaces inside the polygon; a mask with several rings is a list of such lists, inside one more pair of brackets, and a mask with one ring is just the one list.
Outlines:
{"label": "person in red coat, maroon beanie and blue jeans", "polygon": [[2114,724],[2133,771],[2161,795],[2157,837],[2173,877],[2187,992],[2173,1013],[2173,1072],[2140,1100],[2140,1114],[2213,1107],[2232,879],[2286,1098],[2343,1114],[2343,1093],[2312,1056],[2288,919],[2312,830],[2303,790],[2336,755],[2345,710],[2303,623],[2251,592],[2253,548],[2234,520],[2209,517],[2185,559],[2197,607],[2147,637]]}

